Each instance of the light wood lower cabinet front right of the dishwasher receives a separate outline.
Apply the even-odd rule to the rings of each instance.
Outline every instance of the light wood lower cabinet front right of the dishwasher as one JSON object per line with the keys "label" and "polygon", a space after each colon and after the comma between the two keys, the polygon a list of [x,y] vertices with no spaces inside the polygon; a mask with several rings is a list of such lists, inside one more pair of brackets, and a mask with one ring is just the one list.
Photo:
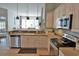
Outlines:
{"label": "light wood lower cabinet front right of the dishwasher", "polygon": [[48,48],[47,36],[21,36],[21,48]]}

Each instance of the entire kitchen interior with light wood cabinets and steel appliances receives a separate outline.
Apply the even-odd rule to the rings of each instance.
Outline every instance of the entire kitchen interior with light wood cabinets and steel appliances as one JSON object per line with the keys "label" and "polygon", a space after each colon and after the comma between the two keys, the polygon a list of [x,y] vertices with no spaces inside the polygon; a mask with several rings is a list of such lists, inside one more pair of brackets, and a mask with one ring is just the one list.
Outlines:
{"label": "entire kitchen interior with light wood cabinets and steel appliances", "polygon": [[78,3],[0,3],[0,55],[79,56],[78,7]]}

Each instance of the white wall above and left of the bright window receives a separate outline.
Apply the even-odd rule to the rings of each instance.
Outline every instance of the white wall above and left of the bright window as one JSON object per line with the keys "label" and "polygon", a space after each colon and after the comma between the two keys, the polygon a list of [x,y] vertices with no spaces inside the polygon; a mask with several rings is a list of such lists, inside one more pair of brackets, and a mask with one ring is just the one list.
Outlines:
{"label": "white wall above and left of the bright window", "polygon": [[[27,5],[26,4],[19,4],[19,16],[37,16],[37,4],[29,4],[29,14],[27,14]],[[44,4],[39,4],[38,8],[38,16],[41,16],[41,8]],[[18,27],[18,23],[14,23],[15,16],[17,16],[17,6],[15,3],[9,4],[9,3],[0,3],[1,8],[8,9],[8,28],[11,29],[13,27]],[[43,15],[44,16],[44,15]]]}

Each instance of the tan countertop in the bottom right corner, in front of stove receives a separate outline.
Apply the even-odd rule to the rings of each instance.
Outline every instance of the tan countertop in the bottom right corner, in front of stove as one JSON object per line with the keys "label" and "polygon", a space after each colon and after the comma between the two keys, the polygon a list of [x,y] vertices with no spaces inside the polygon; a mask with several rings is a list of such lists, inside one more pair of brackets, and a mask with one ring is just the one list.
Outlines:
{"label": "tan countertop in the bottom right corner, in front of stove", "polygon": [[60,47],[59,50],[64,56],[79,56],[79,50],[71,47]]}

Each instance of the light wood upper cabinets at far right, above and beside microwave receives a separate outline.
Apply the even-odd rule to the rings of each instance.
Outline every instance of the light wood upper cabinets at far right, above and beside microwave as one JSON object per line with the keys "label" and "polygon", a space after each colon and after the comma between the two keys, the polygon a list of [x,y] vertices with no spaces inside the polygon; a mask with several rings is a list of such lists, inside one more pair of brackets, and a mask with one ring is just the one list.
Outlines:
{"label": "light wood upper cabinets at far right, above and beside microwave", "polygon": [[65,15],[73,14],[72,30],[79,30],[79,4],[68,3],[65,5]]}

